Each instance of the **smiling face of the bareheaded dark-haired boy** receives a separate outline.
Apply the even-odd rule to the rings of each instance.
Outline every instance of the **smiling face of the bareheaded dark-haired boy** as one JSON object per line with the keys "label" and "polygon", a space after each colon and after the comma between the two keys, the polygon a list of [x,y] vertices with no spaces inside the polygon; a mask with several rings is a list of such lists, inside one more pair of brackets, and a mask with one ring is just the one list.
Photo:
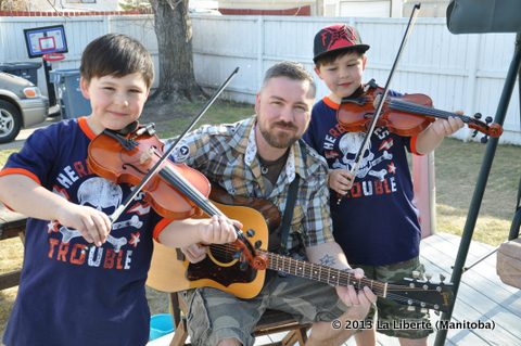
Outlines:
{"label": "smiling face of the bareheaded dark-haired boy", "polygon": [[120,130],[141,115],[150,89],[140,73],[124,77],[106,75],[81,78],[81,93],[92,107],[89,126],[99,134],[104,129]]}

